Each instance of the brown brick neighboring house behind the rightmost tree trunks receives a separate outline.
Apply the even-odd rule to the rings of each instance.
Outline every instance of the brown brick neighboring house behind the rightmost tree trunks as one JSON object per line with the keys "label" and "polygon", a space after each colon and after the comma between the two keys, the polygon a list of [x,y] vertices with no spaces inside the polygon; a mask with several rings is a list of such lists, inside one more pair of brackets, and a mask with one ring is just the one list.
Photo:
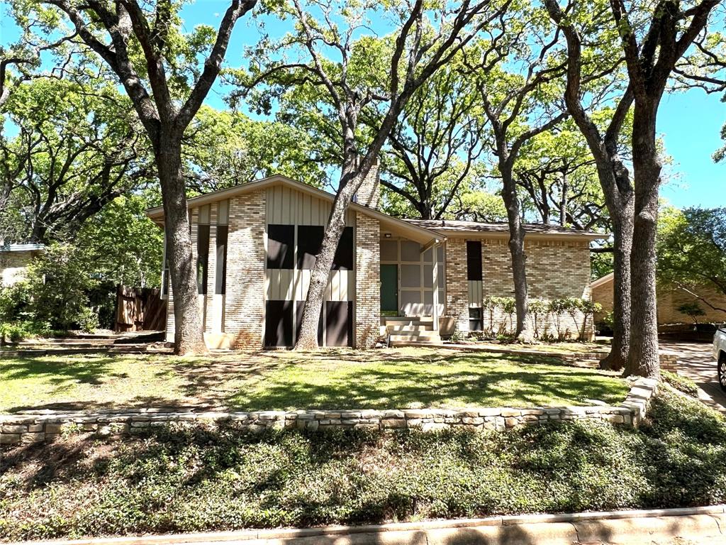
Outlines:
{"label": "brown brick neighboring house behind the rightmost tree trunks", "polygon": [[[714,307],[726,309],[726,295],[714,288],[707,286],[694,286],[690,291],[703,297]],[[592,291],[592,300],[603,305],[603,311],[595,315],[595,323],[603,319],[605,314],[613,310],[613,273],[598,278],[590,284]],[[658,284],[656,286],[656,297],[658,299],[658,324],[666,323],[691,323],[693,318],[683,314],[678,308],[683,304],[698,304],[701,310],[705,312],[703,316],[697,316],[699,322],[702,323],[722,323],[726,320],[726,312],[722,310],[714,310],[704,303],[698,297],[695,297],[677,286],[665,286]]]}

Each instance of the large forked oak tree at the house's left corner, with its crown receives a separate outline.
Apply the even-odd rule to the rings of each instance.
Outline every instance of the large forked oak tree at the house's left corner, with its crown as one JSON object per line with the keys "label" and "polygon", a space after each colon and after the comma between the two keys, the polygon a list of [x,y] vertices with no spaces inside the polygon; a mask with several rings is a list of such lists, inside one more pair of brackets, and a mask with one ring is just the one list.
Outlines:
{"label": "large forked oak tree at the house's left corner, with its crown", "polygon": [[255,0],[231,0],[216,31],[199,26],[189,34],[182,31],[181,4],[172,0],[37,0],[17,5],[31,15],[18,17],[19,21],[43,23],[47,33],[56,32],[64,20],[70,22],[69,32],[115,73],[144,126],[163,196],[179,354],[206,350],[192,262],[182,140],[219,75],[235,23],[255,4]]}

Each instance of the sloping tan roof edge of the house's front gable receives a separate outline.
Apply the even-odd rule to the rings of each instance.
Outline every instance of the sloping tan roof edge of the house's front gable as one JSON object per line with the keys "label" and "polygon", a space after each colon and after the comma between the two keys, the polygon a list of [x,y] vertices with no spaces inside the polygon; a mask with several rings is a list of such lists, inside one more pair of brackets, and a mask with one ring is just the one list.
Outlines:
{"label": "sloping tan roof edge of the house's front gable", "polygon": [[[187,199],[187,206],[189,208],[204,206],[208,203],[222,201],[224,199],[236,197],[237,195],[244,195],[245,193],[250,193],[253,191],[259,191],[261,189],[265,189],[266,187],[272,187],[274,185],[285,185],[287,187],[291,187],[294,190],[301,191],[302,193],[307,193],[309,195],[322,199],[323,201],[333,202],[333,200],[335,199],[335,195],[333,195],[332,193],[327,193],[327,191],[319,190],[317,189],[317,187],[303,184],[303,182],[298,182],[297,180],[282,176],[281,174],[274,174],[274,176],[258,179],[254,182],[248,182],[242,185],[235,185],[234,187],[229,187],[228,189],[223,189],[219,191],[214,191],[212,193],[205,193],[204,195],[199,195],[197,197],[192,197],[190,199]],[[350,206],[348,206],[348,209],[356,212],[362,212],[363,214],[367,214],[370,217],[378,219],[381,223],[382,228],[387,227],[389,229],[396,230],[397,233],[401,233],[402,235],[407,236],[407,238],[410,238],[413,241],[417,241],[420,243],[429,243],[437,241],[443,242],[446,239],[444,235],[436,230],[413,225],[412,223],[409,223],[403,219],[389,216],[388,214],[383,214],[383,212],[381,211],[372,209],[359,203],[351,203]],[[164,209],[162,206],[157,206],[156,208],[149,209],[146,211],[146,213],[147,216],[150,217],[155,223],[157,223],[158,225],[163,225]]]}

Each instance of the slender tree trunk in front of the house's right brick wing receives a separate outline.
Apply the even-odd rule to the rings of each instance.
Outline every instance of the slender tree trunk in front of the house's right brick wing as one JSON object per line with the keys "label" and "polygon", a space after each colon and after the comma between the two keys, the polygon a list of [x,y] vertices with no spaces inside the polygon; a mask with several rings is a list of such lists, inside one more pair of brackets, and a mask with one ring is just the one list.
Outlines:
{"label": "slender tree trunk in front of the house's right brick wing", "polygon": [[529,302],[527,299],[526,253],[524,251],[524,228],[522,227],[522,211],[517,197],[517,185],[512,171],[505,165],[499,166],[502,174],[502,198],[507,209],[509,223],[509,251],[512,255],[512,275],[514,280],[514,299],[517,308],[517,328],[515,336],[518,341],[534,342],[534,331],[529,323]]}

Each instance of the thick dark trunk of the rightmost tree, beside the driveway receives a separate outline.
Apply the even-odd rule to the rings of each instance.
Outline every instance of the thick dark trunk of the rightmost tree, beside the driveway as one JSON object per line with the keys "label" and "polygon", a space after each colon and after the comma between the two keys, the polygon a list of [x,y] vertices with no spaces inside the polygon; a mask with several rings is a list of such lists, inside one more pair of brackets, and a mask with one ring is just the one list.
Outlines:
{"label": "thick dark trunk of the rightmost tree, beside the driveway", "polygon": [[[657,102],[656,102],[657,104]],[[658,376],[658,312],[656,310],[656,231],[661,161],[656,149],[656,107],[635,102],[633,116],[633,177],[635,221],[630,254],[630,352],[625,376]]]}

